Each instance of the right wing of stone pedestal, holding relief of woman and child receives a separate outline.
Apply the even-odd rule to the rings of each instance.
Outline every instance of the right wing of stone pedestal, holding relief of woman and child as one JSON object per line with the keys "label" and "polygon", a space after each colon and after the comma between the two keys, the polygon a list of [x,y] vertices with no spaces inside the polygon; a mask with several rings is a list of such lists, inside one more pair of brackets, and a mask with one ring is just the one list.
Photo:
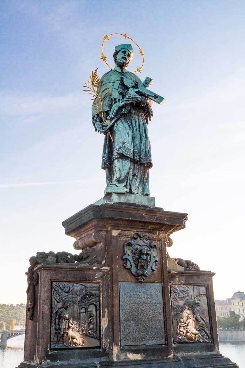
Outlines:
{"label": "right wing of stone pedestal, holding relief of woman and child", "polygon": [[[211,353],[212,351],[219,353],[212,285],[212,277],[214,275],[215,273],[210,271],[199,270],[169,271],[175,354],[184,354],[185,352],[194,354],[197,351],[196,346],[198,346],[200,354],[202,352]],[[185,316],[180,312],[184,312],[185,307],[190,308],[188,314],[195,315],[195,313],[192,313],[194,312],[193,309],[195,309],[207,322],[207,328],[204,328],[207,330],[209,338],[203,330],[201,331],[201,335],[206,342],[204,340],[195,342],[186,338],[177,339],[179,335],[176,330],[178,329],[179,320]],[[196,320],[193,321],[193,325],[195,327]]]}

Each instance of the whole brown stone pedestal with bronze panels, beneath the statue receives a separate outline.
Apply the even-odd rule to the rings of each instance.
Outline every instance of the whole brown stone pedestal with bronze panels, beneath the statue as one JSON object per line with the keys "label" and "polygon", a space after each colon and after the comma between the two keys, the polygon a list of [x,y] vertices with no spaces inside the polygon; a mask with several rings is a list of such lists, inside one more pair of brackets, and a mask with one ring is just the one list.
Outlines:
{"label": "whole brown stone pedestal with bronze panels, beneath the statue", "polygon": [[[184,269],[167,254],[169,235],[186,220],[186,213],[104,201],[65,220],[84,258],[35,268],[36,304],[19,367],[238,367],[219,353],[214,274]],[[61,298],[82,332],[79,345],[55,347]]]}

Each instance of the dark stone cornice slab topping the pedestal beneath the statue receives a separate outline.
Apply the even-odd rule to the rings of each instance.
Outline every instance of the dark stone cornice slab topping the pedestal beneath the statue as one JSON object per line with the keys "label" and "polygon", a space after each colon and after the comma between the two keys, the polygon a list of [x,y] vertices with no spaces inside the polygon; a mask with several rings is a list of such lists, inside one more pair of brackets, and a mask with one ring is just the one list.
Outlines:
{"label": "dark stone cornice slab topping the pedestal beneath the statue", "polygon": [[187,219],[187,213],[165,211],[159,207],[105,203],[87,206],[62,225],[65,233],[76,239],[91,233],[92,229],[107,230],[109,227],[132,230],[140,226],[145,232],[150,229],[164,235],[184,229]]}

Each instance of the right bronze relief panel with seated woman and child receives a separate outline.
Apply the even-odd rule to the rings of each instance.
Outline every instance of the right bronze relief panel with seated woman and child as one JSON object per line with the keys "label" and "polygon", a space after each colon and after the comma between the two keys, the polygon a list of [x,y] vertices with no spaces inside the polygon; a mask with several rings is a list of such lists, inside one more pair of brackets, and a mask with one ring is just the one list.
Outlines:
{"label": "right bronze relief panel with seated woman and child", "polygon": [[211,342],[205,286],[170,285],[174,343]]}

